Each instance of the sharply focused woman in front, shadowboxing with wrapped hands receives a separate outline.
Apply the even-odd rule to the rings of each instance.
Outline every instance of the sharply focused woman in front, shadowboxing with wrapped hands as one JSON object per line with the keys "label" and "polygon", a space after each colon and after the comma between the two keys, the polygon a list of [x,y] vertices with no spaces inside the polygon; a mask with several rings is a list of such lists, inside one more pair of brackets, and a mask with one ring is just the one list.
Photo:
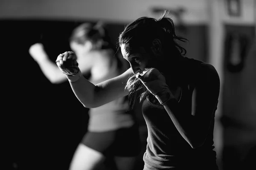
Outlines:
{"label": "sharply focused woman in front, shadowboxing with wrapped hands", "polygon": [[60,54],[56,63],[86,108],[123,96],[132,108],[140,98],[148,127],[144,170],[218,170],[213,129],[220,79],[212,65],[184,57],[178,42],[186,39],[175,34],[167,15],[141,17],[125,27],[119,46],[131,68],[118,77],[93,85],[79,67],[65,66],[76,63],[73,52]]}

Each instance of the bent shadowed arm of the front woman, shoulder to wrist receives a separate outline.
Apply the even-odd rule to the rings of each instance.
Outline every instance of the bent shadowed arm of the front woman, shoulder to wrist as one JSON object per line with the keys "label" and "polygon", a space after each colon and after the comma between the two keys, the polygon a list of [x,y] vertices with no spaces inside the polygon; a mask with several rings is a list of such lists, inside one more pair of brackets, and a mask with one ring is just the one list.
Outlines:
{"label": "bent shadowed arm of the front woman, shoulder to wrist", "polygon": [[204,144],[218,103],[219,90],[220,80],[215,68],[203,64],[199,82],[192,94],[192,113],[183,114],[176,99],[164,105],[175,127],[192,148]]}

